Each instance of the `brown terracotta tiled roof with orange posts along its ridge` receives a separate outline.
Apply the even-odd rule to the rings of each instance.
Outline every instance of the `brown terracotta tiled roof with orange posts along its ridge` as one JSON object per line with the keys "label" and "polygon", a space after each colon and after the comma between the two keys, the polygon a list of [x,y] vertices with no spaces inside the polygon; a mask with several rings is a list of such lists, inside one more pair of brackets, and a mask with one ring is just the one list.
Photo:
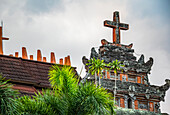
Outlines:
{"label": "brown terracotta tiled roof with orange posts along its ridge", "polygon": [[[0,55],[0,73],[6,79],[10,79],[10,82],[15,84],[14,89],[20,90],[21,93],[50,88],[48,72],[52,65],[54,64]],[[77,74],[76,68],[73,68]]]}

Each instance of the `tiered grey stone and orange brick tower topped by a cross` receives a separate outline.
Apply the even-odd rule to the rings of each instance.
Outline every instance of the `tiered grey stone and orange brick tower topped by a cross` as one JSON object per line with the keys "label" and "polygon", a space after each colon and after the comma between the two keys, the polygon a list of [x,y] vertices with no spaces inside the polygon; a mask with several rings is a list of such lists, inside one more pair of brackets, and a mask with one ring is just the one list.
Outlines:
{"label": "tiered grey stone and orange brick tower topped by a cross", "polygon": [[[104,26],[113,29],[113,42],[101,40],[98,52],[93,47],[89,59],[95,58],[110,63],[114,60],[123,62],[123,71],[118,71],[115,78],[114,71],[103,70],[101,86],[114,94],[116,79],[116,105],[122,108],[147,110],[160,112],[160,102],[165,101],[165,93],[170,87],[170,80],[166,79],[162,86],[151,85],[148,79],[153,58],[144,61],[144,55],[137,60],[134,56],[133,44],[123,45],[120,39],[120,30],[128,30],[129,25],[120,23],[119,12],[113,13],[113,21],[104,21]],[[86,76],[83,81],[94,81],[94,76],[89,73],[86,65],[88,58],[83,56],[82,62],[85,65]]]}

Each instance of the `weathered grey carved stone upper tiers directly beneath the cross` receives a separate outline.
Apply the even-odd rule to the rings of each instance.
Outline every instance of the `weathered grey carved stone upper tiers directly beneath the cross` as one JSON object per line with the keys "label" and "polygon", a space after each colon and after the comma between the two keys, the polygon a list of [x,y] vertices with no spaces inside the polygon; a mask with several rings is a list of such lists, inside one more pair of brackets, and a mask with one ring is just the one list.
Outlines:
{"label": "weathered grey carved stone upper tiers directly beneath the cross", "polygon": [[[106,41],[104,41],[106,42]],[[91,58],[99,58],[104,60],[105,63],[110,63],[114,60],[122,61],[125,65],[124,71],[136,71],[137,73],[150,73],[153,65],[153,58],[150,58],[146,63],[144,62],[144,56],[141,55],[138,61],[133,55],[134,49],[127,47],[126,45],[113,45],[111,43],[103,43],[99,48],[99,53],[96,52],[95,48],[91,49]],[[85,57],[82,59],[83,64],[85,63]],[[87,58],[86,58],[86,62]],[[85,65],[87,70],[87,66]],[[146,78],[147,79],[147,78]]]}

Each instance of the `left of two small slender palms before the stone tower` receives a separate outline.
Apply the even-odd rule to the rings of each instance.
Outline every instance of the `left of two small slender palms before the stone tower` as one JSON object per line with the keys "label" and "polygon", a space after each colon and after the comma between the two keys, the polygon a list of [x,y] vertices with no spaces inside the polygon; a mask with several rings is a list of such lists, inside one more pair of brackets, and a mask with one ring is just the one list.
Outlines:
{"label": "left of two small slender palms before the stone tower", "polygon": [[94,83],[96,84],[96,86],[97,86],[97,75],[99,75],[99,85],[100,85],[101,71],[105,68],[106,65],[104,63],[104,60],[92,58],[91,60],[89,60],[89,63],[87,63],[87,65],[89,65],[90,73],[95,76]]}

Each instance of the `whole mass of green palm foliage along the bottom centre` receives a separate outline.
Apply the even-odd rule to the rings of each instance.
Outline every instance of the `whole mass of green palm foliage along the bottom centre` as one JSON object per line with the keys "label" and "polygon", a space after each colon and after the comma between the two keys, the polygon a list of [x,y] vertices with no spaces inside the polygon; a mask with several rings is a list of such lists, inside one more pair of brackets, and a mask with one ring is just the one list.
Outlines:
{"label": "whole mass of green palm foliage along the bottom centre", "polygon": [[49,71],[53,90],[16,99],[21,115],[108,115],[114,113],[111,94],[92,83],[78,84],[72,68],[55,65]]}

